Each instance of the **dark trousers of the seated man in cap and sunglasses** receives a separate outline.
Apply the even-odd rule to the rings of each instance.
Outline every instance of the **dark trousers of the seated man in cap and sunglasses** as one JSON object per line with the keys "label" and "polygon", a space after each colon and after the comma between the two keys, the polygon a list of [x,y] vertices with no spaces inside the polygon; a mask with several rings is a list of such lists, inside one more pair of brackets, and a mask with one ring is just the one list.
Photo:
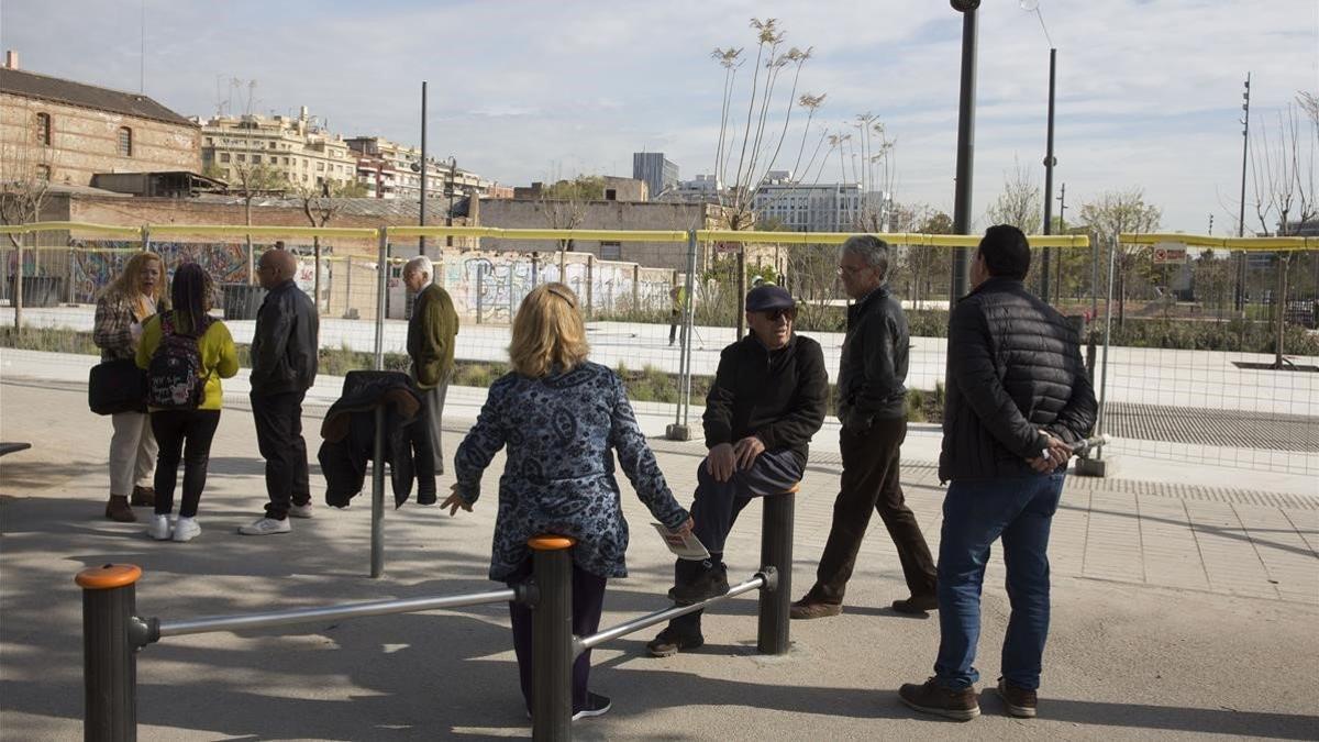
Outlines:
{"label": "dark trousers of the seated man in cap and sunglasses", "polygon": [[[710,551],[712,566],[723,566],[724,543],[752,498],[782,494],[801,481],[802,465],[790,450],[765,452],[748,469],[733,471],[727,482],[715,481],[702,459],[696,470],[696,496],[691,503],[691,532]],[[679,558],[674,564],[674,581],[691,580],[700,569],[700,562]],[[700,613],[679,615],[669,624],[685,634],[699,632]]]}

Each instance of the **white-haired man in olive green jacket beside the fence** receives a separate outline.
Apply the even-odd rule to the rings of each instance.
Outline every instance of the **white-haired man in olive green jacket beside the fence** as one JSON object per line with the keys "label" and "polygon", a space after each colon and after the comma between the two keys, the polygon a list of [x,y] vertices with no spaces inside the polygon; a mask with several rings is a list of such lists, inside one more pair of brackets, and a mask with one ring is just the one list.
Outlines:
{"label": "white-haired man in olive green jacket beside the fence", "polygon": [[431,467],[418,467],[417,502],[421,504],[434,504],[437,499],[435,477],[427,478],[421,473],[425,469],[431,469],[434,474],[445,473],[441,422],[448,382],[454,375],[454,339],[458,335],[454,300],[434,283],[434,264],[425,255],[413,257],[404,265],[404,284],[417,294],[408,321],[408,356],[412,358],[413,382],[421,389],[425,403],[422,420],[413,424],[413,452],[418,458],[429,457],[434,461]]}

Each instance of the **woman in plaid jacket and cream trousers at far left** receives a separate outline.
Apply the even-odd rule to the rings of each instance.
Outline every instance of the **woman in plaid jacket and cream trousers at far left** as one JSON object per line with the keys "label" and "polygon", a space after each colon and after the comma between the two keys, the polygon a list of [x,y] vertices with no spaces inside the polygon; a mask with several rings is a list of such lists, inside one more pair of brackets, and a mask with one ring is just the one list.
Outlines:
{"label": "woman in plaid jacket and cream trousers at far left", "polygon": [[[96,300],[91,339],[102,360],[132,360],[142,337],[142,322],[164,309],[165,264],[154,252],[138,252],[128,259],[124,272]],[[135,506],[156,504],[152,483],[156,471],[156,436],[141,412],[111,416],[115,433],[109,438],[109,502],[106,518],[133,523]]]}

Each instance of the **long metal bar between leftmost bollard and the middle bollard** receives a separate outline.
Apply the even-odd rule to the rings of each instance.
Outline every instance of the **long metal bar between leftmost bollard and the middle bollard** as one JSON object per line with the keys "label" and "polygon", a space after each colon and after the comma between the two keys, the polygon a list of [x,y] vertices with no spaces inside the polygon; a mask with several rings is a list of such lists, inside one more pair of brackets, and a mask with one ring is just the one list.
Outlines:
{"label": "long metal bar between leftmost bollard and the middle bollard", "polygon": [[290,626],[295,623],[317,623],[339,618],[363,618],[367,615],[389,615],[397,613],[419,613],[437,609],[455,609],[499,603],[517,599],[513,589],[470,593],[441,598],[404,598],[398,601],[373,601],[369,603],[344,603],[317,609],[297,609],[273,613],[253,613],[247,615],[214,615],[183,621],[161,621],[160,636],[181,636],[183,634],[206,634],[208,631],[239,631],[243,628],[266,628],[270,626]]}

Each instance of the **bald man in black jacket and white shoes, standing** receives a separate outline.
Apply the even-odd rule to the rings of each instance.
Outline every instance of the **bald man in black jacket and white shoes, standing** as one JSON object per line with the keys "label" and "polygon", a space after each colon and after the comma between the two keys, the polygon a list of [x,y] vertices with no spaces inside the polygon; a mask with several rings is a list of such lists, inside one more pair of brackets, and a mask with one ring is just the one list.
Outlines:
{"label": "bald man in black jacket and white shoes, standing", "polygon": [[282,246],[261,253],[257,280],[266,289],[252,335],[252,419],[265,458],[265,516],[244,536],[288,533],[289,516],[311,518],[302,397],[317,379],[319,321],[311,298],[293,283],[298,261]]}

